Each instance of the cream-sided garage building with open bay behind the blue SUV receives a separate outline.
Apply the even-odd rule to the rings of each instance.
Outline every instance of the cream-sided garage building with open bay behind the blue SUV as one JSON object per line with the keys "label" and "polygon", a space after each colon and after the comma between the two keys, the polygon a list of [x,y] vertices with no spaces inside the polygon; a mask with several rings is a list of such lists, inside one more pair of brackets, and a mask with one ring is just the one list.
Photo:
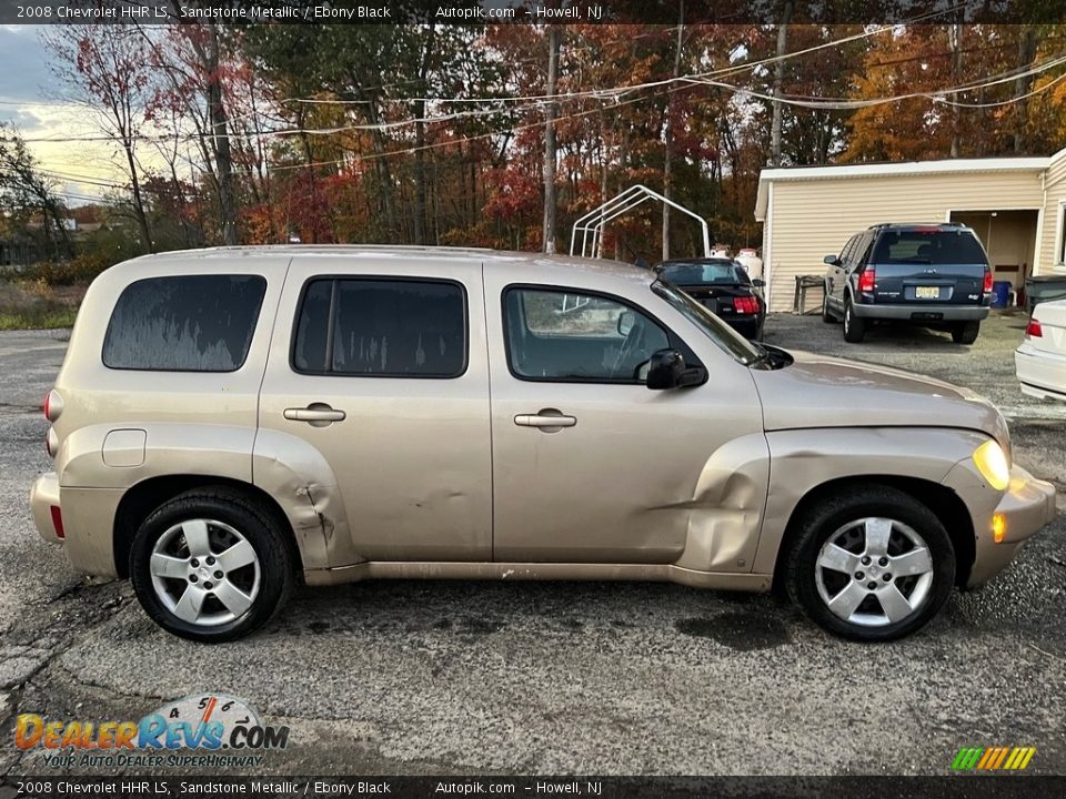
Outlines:
{"label": "cream-sided garage building with open bay behind the blue SUV", "polygon": [[1066,273],[1064,209],[1066,150],[1049,158],[763,170],[755,219],[763,223],[770,310],[791,311],[798,276],[823,275],[823,256],[881,222],[969,225],[995,280],[1015,287],[1029,275]]}

